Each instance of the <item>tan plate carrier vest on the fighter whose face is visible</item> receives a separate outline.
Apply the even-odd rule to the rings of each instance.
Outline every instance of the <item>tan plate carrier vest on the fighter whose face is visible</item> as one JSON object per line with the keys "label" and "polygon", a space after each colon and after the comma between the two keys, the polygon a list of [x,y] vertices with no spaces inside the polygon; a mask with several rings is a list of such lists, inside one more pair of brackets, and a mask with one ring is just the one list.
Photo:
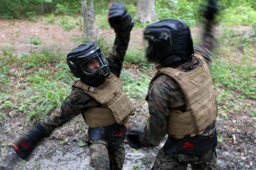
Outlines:
{"label": "tan plate carrier vest on the fighter whose face is visible", "polygon": [[122,89],[122,84],[113,73],[98,87],[84,84],[76,80],[73,86],[79,87],[102,104],[102,108],[88,108],[84,110],[83,117],[89,127],[104,127],[114,123],[125,125],[130,129],[128,120],[133,113],[133,106]]}

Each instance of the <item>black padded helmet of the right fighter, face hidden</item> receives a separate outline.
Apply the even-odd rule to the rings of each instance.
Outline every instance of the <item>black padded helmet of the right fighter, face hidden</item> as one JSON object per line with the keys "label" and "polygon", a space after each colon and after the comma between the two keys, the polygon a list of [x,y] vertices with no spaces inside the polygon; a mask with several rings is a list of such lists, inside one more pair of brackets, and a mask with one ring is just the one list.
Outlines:
{"label": "black padded helmet of the right fighter, face hidden", "polygon": [[144,31],[146,57],[150,62],[172,66],[191,59],[194,53],[190,29],[180,20],[163,20]]}

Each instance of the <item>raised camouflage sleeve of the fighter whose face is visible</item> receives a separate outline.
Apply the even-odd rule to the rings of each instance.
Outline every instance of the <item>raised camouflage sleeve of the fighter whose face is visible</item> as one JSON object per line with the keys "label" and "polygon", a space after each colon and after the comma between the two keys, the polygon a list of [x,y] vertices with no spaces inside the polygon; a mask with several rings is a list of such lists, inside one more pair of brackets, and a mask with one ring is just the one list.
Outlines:
{"label": "raised camouflage sleeve of the fighter whose face is visible", "polygon": [[128,48],[128,43],[130,41],[130,36],[123,41],[120,41],[117,37],[114,40],[114,45],[109,55],[107,56],[107,60],[109,62],[110,71],[115,74],[117,77],[120,76],[124,56]]}

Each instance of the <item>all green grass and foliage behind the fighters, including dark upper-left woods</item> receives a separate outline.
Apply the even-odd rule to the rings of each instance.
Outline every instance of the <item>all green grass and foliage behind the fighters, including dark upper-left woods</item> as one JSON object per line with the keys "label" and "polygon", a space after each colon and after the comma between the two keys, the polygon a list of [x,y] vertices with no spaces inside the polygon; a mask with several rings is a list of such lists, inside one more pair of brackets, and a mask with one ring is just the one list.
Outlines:
{"label": "all green grass and foliage behind the fighters, including dark upper-left woods", "polygon": [[[81,30],[82,28],[79,0],[6,0],[5,2],[0,4],[2,18],[31,18],[34,15],[49,12],[46,23],[61,25],[67,31],[74,28]],[[123,2],[134,17],[136,1]],[[159,0],[156,1],[156,10],[160,19],[181,19],[192,26],[202,22],[202,10],[205,8],[205,2],[207,1]],[[102,30],[110,29],[106,15],[110,1],[95,0],[94,3],[98,27]],[[256,2],[254,0],[225,0],[219,1],[219,3],[220,13],[217,20],[222,27],[254,24],[253,19],[256,18]],[[200,7],[198,4],[201,4]],[[30,5],[29,8],[28,5]],[[41,7],[45,10],[42,10]],[[135,28],[144,27],[145,25],[135,21]],[[31,45],[42,43],[37,37],[27,38],[30,39]],[[79,35],[74,35],[73,41],[84,42]],[[235,111],[243,109],[243,105],[234,103],[235,100],[241,100],[243,103],[245,99],[255,99],[256,66],[253,62],[255,43],[255,38],[241,38],[240,32],[234,32],[231,29],[224,29],[223,34],[218,37],[218,46],[215,50],[211,70],[214,88],[219,91],[218,104],[223,117],[227,117],[227,111],[231,108]],[[103,51],[109,51],[112,46],[112,43],[108,42],[104,36],[100,37],[97,44]],[[70,82],[75,77],[66,65],[65,57],[63,57],[66,54],[50,50],[47,47],[39,52],[33,51],[31,48],[29,52],[31,55],[16,56],[12,47],[2,48],[3,55],[0,56],[0,119],[7,119],[9,115],[4,113],[16,109],[27,115],[28,123],[40,121],[56,106],[59,106],[71,91]],[[239,56],[239,58],[234,59],[233,56]],[[152,72],[154,66],[145,61],[144,52],[138,49],[127,51],[125,65],[132,68],[131,70],[137,72],[139,76],[136,77],[127,69],[122,70],[120,78],[124,91],[133,102],[144,100],[151,79],[148,73]],[[19,80],[19,84],[13,84],[17,80]],[[228,102],[223,104],[224,101]],[[250,116],[255,117],[255,110],[251,111]]]}

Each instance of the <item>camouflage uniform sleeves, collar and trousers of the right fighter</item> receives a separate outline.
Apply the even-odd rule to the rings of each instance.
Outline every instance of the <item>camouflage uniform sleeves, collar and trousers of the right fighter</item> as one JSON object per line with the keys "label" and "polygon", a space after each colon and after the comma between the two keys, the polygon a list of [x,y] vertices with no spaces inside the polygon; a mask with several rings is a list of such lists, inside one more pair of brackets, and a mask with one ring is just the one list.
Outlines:
{"label": "camouflage uniform sleeves, collar and trousers of the right fighter", "polygon": [[[195,53],[200,54],[205,60],[211,61],[211,50],[213,46],[213,35],[206,32],[203,41],[195,48]],[[195,58],[184,64],[175,67],[183,72],[189,72],[198,67],[199,62]],[[161,84],[161,86],[159,86]],[[161,139],[166,135],[168,128],[168,117],[170,109],[185,110],[186,101],[179,84],[171,77],[162,74],[158,76],[148,91],[148,105],[150,117],[141,137],[141,143],[146,146],[157,146]],[[168,100],[166,100],[168,99]],[[214,99],[215,100],[215,99]],[[163,126],[165,125],[165,126]],[[201,137],[212,137],[216,127],[212,125],[206,128]],[[175,133],[175,132],[174,132]],[[166,154],[162,147],[156,156],[152,170],[185,170],[190,164],[193,169],[218,169],[216,146],[210,147],[203,154],[191,155],[184,153]],[[176,159],[173,159],[173,158]]]}

